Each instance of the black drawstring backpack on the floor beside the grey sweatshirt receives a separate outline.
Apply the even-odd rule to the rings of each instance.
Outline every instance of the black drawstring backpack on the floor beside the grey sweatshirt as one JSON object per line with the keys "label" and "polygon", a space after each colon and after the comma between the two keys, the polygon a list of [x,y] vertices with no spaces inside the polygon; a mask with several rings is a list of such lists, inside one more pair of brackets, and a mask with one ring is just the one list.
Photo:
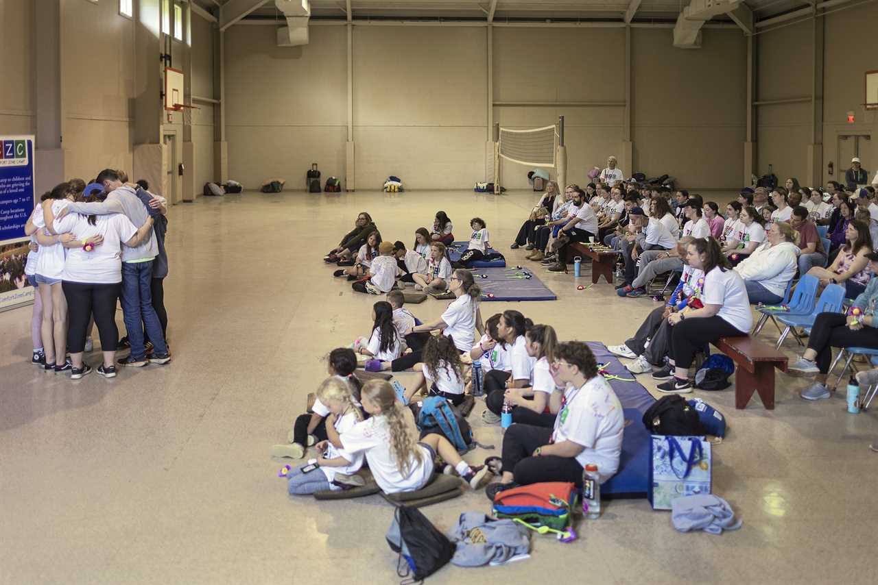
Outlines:
{"label": "black drawstring backpack on the floor beside the grey sweatshirt", "polygon": [[[391,550],[399,554],[396,574],[411,575],[414,581],[423,581],[454,556],[455,546],[448,537],[436,530],[421,510],[407,506],[399,506],[393,512],[385,539]],[[405,573],[399,567],[402,559],[408,564]]]}

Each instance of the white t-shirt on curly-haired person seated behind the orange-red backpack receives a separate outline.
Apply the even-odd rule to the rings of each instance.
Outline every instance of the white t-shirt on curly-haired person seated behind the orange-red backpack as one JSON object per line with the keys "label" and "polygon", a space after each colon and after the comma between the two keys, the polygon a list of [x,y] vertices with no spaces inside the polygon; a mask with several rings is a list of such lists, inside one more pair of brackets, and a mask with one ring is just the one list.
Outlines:
{"label": "white t-shirt on curly-haired person seated behind the orange-red backpack", "polygon": [[625,417],[615,392],[600,375],[580,388],[565,390],[565,404],[555,417],[553,443],[571,441],[585,447],[577,456],[579,465],[598,466],[601,483],[619,469]]}

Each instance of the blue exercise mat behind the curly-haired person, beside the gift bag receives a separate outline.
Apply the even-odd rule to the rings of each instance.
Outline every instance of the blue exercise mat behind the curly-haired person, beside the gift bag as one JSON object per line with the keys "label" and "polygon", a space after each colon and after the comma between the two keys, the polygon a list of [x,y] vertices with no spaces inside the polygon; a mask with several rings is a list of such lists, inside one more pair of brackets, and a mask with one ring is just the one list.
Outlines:
{"label": "blue exercise mat behind the curly-haired person, beside the gift bag", "polygon": [[[625,430],[622,436],[622,454],[619,456],[619,471],[601,485],[601,496],[612,498],[646,497],[650,490],[650,438],[651,433],[643,423],[644,412],[655,403],[655,398],[646,391],[643,384],[636,381],[615,355],[609,353],[607,346],[598,341],[589,341],[598,364],[604,364],[603,371],[620,378],[635,378],[634,382],[608,380],[615,396],[619,397],[625,414]],[[630,423],[628,422],[630,421]]]}

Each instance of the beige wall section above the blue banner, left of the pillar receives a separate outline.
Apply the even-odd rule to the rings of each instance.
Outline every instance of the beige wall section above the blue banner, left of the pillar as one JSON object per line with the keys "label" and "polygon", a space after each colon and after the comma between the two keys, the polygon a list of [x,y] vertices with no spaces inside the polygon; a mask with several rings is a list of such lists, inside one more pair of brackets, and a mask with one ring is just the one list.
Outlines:
{"label": "beige wall section above the blue banner, left of the pillar", "polygon": [[0,133],[30,134],[33,119],[32,0],[0,2],[3,82],[0,82]]}

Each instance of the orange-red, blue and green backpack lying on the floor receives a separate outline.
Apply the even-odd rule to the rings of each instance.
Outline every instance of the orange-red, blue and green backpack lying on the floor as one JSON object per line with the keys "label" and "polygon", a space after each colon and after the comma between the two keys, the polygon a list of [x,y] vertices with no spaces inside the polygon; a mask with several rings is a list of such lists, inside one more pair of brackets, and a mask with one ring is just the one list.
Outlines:
{"label": "orange-red, blue and green backpack lying on the floor", "polygon": [[576,488],[572,482],[530,483],[497,492],[493,500],[494,517],[516,519],[535,530],[547,526],[566,531],[572,524]]}

